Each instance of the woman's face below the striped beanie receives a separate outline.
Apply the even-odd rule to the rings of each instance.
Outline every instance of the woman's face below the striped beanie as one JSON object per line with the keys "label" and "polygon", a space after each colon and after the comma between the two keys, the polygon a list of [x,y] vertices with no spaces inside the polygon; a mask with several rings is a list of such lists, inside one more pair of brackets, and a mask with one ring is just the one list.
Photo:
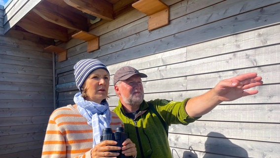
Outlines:
{"label": "woman's face below the striped beanie", "polygon": [[85,100],[101,103],[108,95],[109,75],[104,69],[94,70],[83,83]]}

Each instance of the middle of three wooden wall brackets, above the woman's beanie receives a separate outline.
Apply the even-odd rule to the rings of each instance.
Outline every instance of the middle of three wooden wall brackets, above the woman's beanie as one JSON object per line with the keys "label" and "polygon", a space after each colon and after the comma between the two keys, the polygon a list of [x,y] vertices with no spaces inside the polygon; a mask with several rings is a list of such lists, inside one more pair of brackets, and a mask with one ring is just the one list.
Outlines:
{"label": "middle of three wooden wall brackets, above the woman's beanie", "polygon": [[80,31],[74,35],[72,35],[72,38],[79,39],[79,40],[85,40],[87,41],[87,51],[91,52],[94,50],[99,49],[99,36]]}

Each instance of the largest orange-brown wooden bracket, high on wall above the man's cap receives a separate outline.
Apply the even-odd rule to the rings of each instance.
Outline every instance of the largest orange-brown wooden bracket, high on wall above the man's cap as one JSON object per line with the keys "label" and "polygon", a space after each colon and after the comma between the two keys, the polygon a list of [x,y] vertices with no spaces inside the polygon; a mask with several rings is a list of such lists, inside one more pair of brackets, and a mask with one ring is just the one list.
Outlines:
{"label": "largest orange-brown wooden bracket, high on wall above the man's cap", "polygon": [[139,0],[132,6],[149,16],[149,31],[169,24],[169,6],[161,0]]}

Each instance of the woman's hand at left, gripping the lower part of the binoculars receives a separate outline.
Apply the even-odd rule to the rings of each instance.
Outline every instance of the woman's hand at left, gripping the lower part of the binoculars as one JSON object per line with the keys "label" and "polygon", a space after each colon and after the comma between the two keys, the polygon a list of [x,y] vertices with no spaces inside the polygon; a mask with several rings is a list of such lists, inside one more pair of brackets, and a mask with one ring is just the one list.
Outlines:
{"label": "woman's hand at left, gripping the lower part of the binoculars", "polygon": [[121,147],[115,146],[117,145],[116,141],[113,140],[105,140],[99,144],[97,144],[91,151],[92,158],[117,158],[120,153],[113,153],[110,151],[121,150]]}

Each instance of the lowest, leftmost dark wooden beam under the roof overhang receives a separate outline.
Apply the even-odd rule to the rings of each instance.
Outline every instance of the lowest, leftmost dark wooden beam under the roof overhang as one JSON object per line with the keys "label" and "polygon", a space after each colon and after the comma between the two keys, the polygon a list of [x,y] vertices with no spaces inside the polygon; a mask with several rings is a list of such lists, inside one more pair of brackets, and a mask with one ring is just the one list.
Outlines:
{"label": "lowest, leftmost dark wooden beam under the roof overhang", "polygon": [[55,40],[68,41],[68,32],[66,28],[45,21],[32,11],[24,19],[21,19],[17,25],[36,35]]}

